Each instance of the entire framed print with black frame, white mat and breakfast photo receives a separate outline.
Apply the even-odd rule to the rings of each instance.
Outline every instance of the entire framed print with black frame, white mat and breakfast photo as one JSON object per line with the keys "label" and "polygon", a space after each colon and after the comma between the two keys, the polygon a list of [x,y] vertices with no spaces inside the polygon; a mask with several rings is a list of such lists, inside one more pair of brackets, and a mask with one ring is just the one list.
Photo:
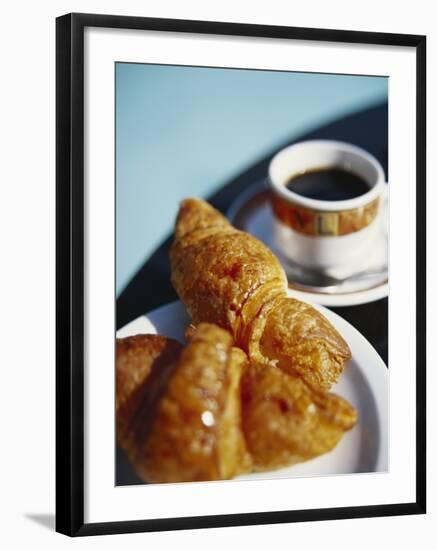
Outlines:
{"label": "entire framed print with black frame, white mat and breakfast photo", "polygon": [[425,513],[425,37],[56,25],[57,530]]}

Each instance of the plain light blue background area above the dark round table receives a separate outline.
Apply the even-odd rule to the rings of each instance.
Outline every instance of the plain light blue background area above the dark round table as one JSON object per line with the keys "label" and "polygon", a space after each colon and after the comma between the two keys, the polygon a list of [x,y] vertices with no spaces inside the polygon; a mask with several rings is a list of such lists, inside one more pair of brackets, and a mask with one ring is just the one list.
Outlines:
{"label": "plain light blue background area above the dark round table", "polygon": [[382,77],[116,65],[116,292],[204,197],[291,140],[387,101]]}

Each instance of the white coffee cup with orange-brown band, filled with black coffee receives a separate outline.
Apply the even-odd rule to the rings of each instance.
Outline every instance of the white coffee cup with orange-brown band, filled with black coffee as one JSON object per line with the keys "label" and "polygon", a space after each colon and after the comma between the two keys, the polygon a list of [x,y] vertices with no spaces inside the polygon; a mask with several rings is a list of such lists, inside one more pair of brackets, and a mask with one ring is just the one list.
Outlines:
{"label": "white coffee cup with orange-brown band, filled with black coffee", "polygon": [[369,251],[386,185],[367,151],[340,141],[296,143],[273,157],[268,176],[274,242],[285,258],[326,270]]}

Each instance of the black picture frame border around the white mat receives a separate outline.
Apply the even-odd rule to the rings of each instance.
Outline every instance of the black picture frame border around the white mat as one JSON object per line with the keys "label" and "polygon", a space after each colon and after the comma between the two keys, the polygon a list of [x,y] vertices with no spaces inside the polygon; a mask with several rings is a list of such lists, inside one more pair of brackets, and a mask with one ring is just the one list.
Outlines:
{"label": "black picture frame border around the white mat", "polygon": [[[106,27],[414,48],[416,103],[416,499],[398,504],[84,523],[84,29]],[[426,37],[68,14],[56,20],[56,530],[69,536],[423,514],[426,511]]]}

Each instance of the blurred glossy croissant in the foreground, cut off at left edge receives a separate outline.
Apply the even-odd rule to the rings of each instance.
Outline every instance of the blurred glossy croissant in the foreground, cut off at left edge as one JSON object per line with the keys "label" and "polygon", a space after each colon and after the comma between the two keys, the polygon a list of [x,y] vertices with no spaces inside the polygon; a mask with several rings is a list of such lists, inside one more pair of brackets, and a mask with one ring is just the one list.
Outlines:
{"label": "blurred glossy croissant in the foreground, cut off at left edge", "polygon": [[228,332],[200,323],[186,346],[117,340],[117,439],[137,474],[162,483],[228,479],[333,449],[356,422],[334,394],[249,364]]}

